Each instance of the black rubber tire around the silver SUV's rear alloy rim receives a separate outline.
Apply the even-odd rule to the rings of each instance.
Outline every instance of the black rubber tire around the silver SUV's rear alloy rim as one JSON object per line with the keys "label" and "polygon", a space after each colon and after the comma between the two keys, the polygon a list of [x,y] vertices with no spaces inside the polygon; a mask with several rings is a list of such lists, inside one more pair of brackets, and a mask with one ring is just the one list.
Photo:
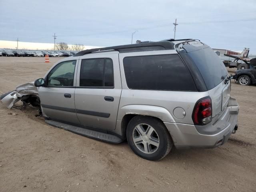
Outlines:
{"label": "black rubber tire around the silver SUV's rear alloy rim", "polygon": [[[139,124],[147,124],[149,125],[151,128],[153,128],[157,133],[157,137],[158,137],[158,141],[159,141],[159,146],[157,149],[155,149],[154,152],[147,154],[145,152],[142,152],[137,146],[139,144],[135,144],[134,143],[134,131],[136,131],[136,126],[138,126]],[[144,133],[146,133],[147,131],[145,130]],[[143,136],[143,134],[141,135]],[[168,132],[168,130],[166,129],[166,126],[164,125],[163,122],[161,122],[160,120],[158,120],[157,118],[153,118],[153,117],[149,117],[149,116],[135,116],[134,118],[132,118],[130,120],[130,122],[128,123],[127,126],[127,130],[126,130],[126,137],[127,137],[127,141],[128,144],[130,146],[130,148],[133,150],[133,152],[135,154],[137,154],[138,156],[147,159],[147,160],[160,160],[162,158],[164,158],[172,149],[173,146],[173,142],[172,142],[172,138]],[[140,135],[139,135],[140,137]],[[149,139],[150,140],[150,139]],[[148,142],[151,142],[152,140],[150,140]],[[143,140],[141,140],[143,141]],[[137,142],[138,143],[138,142]],[[144,146],[142,143],[140,143],[142,146]],[[153,145],[154,147],[154,145]],[[143,148],[143,147],[142,147]],[[149,151],[152,150],[152,145],[151,144],[147,144],[147,150]]]}

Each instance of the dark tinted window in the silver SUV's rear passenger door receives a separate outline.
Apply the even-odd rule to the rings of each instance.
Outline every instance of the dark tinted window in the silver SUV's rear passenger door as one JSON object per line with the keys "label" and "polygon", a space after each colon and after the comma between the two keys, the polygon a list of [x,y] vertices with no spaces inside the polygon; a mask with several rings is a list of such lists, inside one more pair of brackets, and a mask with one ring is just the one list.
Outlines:
{"label": "dark tinted window in the silver SUV's rear passenger door", "polygon": [[80,86],[113,87],[113,62],[109,58],[84,59],[81,63]]}

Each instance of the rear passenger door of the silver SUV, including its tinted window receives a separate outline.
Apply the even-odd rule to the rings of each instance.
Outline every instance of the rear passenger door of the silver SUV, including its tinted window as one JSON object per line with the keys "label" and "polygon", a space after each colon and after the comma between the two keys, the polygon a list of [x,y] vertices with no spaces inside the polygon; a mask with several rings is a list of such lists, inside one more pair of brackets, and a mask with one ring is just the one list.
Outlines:
{"label": "rear passenger door of the silver SUV, including its tinted window", "polygon": [[121,90],[118,52],[80,57],[75,105],[81,124],[114,130]]}

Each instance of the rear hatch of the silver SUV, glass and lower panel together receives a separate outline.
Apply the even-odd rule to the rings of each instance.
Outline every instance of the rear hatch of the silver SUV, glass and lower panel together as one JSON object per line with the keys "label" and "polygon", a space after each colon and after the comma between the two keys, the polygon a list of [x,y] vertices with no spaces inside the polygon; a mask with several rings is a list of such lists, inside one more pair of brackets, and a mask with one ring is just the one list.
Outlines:
{"label": "rear hatch of the silver SUV, glass and lower panel together", "polygon": [[[186,50],[186,58],[196,66],[198,73],[202,76],[205,90],[212,99],[212,117],[221,114],[225,110],[230,99],[230,82],[228,71],[218,55],[207,45],[198,42],[190,42],[182,46]],[[182,54],[180,54],[182,56]],[[182,56],[183,58],[183,56]]]}

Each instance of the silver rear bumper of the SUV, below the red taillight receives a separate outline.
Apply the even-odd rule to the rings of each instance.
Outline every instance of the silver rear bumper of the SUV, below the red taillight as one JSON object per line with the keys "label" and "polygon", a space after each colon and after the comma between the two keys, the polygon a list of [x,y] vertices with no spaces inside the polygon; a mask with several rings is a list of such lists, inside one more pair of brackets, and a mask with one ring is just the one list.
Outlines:
{"label": "silver rear bumper of the SUV, below the red taillight", "polygon": [[[189,124],[164,122],[170,132],[176,148],[215,148],[225,142],[237,129],[239,106],[235,99],[230,99],[223,115],[207,127],[207,130],[198,131],[198,127]],[[207,132],[210,130],[210,132]],[[202,134],[203,132],[203,134]]]}

